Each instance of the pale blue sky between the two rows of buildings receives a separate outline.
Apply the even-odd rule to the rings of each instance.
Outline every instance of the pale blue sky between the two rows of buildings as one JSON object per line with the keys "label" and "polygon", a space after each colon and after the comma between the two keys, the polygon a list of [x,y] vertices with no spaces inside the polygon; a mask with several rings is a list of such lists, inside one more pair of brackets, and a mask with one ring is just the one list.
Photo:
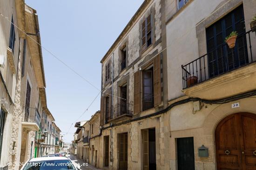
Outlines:
{"label": "pale blue sky between the two rows of buildings", "polygon": [[[37,10],[41,43],[97,88],[101,88],[101,58],[143,0],[25,0]],[[47,106],[64,141],[74,139],[71,123],[99,93],[43,50]],[[100,110],[100,96],[80,120]]]}

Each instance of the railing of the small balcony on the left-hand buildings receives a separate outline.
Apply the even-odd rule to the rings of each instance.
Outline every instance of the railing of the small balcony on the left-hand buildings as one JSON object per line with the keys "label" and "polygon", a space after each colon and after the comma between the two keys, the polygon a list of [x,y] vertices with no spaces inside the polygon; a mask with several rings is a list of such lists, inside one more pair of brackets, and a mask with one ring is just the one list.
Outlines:
{"label": "railing of the small balcony on the left-hand buildings", "polygon": [[25,107],[24,122],[36,123],[40,127],[40,114],[37,108]]}

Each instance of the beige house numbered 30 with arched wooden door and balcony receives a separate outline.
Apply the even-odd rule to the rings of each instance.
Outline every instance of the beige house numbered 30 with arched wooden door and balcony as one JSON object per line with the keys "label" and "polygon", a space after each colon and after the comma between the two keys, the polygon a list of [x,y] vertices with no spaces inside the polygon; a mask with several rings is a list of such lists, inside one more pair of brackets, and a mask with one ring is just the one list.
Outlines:
{"label": "beige house numbered 30 with arched wooden door and balcony", "polygon": [[256,0],[175,2],[166,0],[170,169],[255,169]]}

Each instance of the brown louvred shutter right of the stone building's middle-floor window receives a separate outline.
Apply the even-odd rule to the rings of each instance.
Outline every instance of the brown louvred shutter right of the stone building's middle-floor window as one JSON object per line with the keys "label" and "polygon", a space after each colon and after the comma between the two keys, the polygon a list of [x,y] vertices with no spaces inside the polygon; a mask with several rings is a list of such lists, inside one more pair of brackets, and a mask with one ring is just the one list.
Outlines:
{"label": "brown louvred shutter right of the stone building's middle-floor window", "polygon": [[154,58],[154,106],[161,104],[161,66],[160,55]]}

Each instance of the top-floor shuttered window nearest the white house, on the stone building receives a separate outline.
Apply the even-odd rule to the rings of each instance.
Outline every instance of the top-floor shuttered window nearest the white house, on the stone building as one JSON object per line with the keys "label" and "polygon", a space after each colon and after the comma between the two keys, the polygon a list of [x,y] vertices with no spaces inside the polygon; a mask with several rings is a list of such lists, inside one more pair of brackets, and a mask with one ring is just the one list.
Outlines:
{"label": "top-floor shuttered window nearest the white house, on the stone building", "polygon": [[142,22],[142,51],[146,50],[152,44],[152,24],[151,13]]}

